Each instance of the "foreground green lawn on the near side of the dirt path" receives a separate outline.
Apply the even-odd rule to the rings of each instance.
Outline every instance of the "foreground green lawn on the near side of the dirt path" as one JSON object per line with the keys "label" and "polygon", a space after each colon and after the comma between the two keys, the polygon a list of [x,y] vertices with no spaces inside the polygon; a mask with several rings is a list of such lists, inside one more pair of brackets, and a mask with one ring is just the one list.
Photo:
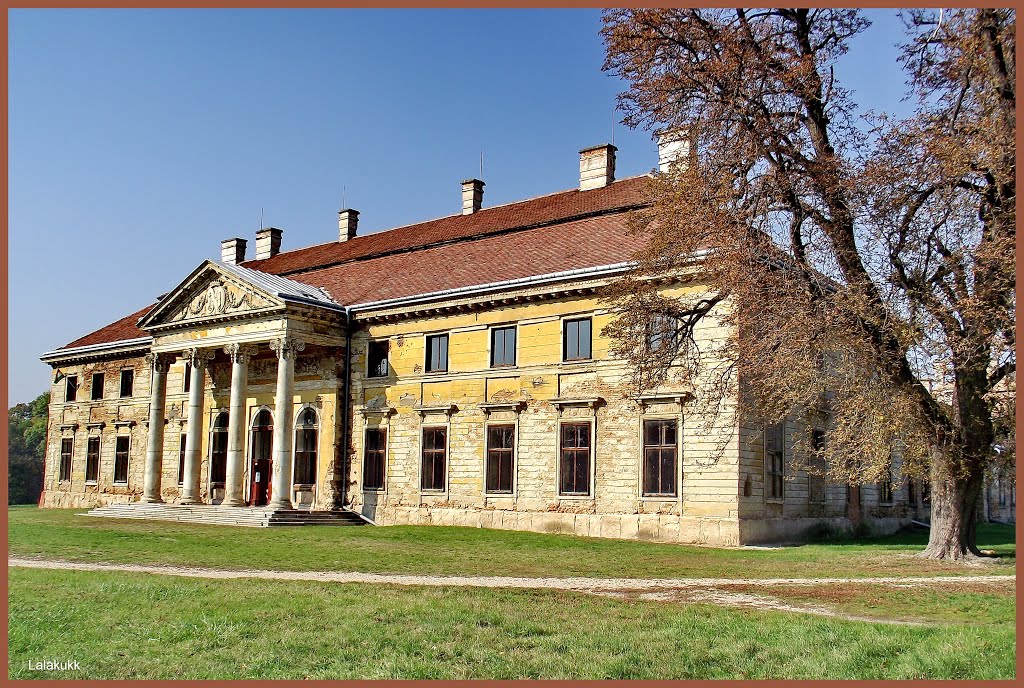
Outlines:
{"label": "foreground green lawn on the near side of the dirt path", "polygon": [[[65,531],[69,527],[61,526]],[[12,525],[12,533],[16,529]],[[129,528],[120,531],[120,541],[100,541],[108,548],[102,554],[109,556],[112,542],[132,542],[133,532]],[[144,543],[157,538],[139,532]],[[217,532],[221,547],[232,549],[223,531]],[[327,542],[334,532],[302,529],[301,536]],[[415,529],[398,531],[402,532],[414,543],[424,542]],[[23,536],[24,532],[18,539]],[[343,539],[352,538],[372,536]],[[456,532],[444,542],[460,543],[464,538],[469,535]],[[90,538],[88,544],[80,543],[82,553],[94,542]],[[493,541],[478,542],[484,547],[482,556],[489,556],[495,545],[487,543]],[[538,544],[536,549],[542,552],[546,548],[541,546],[555,547],[543,538]],[[589,546],[584,542],[575,547],[583,555]],[[520,542],[517,549],[524,547]],[[640,547],[633,552],[649,546]],[[382,549],[390,566],[402,560],[393,543]],[[684,555],[681,558],[690,552],[677,551]],[[328,555],[316,556],[323,565]],[[359,562],[366,556],[342,561]],[[461,556],[453,559],[477,565]],[[659,561],[647,570],[692,570],[671,569],[664,554]],[[802,559],[788,565],[797,561]],[[548,572],[552,565],[550,560],[540,564]],[[759,571],[774,566],[761,562]],[[907,627],[557,591],[205,580],[19,568],[9,570],[9,675],[17,679],[1015,676],[1014,601],[1006,595],[988,599],[981,607],[978,594],[945,595],[929,603],[949,606],[963,624]],[[898,607],[903,595],[889,590],[882,598]],[[920,603],[904,598],[902,609],[912,615]],[[28,670],[29,660],[47,658],[77,659],[81,670],[63,674]]]}

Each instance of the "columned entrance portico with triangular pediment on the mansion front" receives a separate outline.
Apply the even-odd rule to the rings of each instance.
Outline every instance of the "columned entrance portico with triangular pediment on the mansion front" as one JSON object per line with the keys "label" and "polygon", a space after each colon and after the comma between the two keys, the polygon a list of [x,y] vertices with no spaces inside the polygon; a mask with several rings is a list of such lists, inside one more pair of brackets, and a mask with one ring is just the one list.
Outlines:
{"label": "columned entrance portico with triangular pediment on the mansion front", "polygon": [[[344,308],[321,290],[211,261],[164,296],[139,321],[154,337],[146,359],[153,384],[140,501],[271,509],[328,505],[331,496],[325,484],[333,480],[318,479],[302,485],[300,492],[293,489],[299,487],[293,479],[296,404],[321,412],[326,405],[332,412],[328,420],[336,421],[337,395],[330,393],[330,382],[337,382],[333,361],[344,352]],[[312,396],[296,387],[296,362],[303,351],[308,355],[300,378],[315,381]],[[187,403],[182,403],[186,412],[181,418],[180,487],[173,490],[162,480],[168,468],[167,374],[180,363],[188,376],[183,380]],[[272,385],[267,384],[270,379]],[[272,418],[269,475],[254,459],[257,447],[252,440],[258,437],[253,423],[261,412],[266,413],[260,418]],[[315,418],[325,416],[318,413]],[[334,423],[329,425],[318,426],[315,436],[333,439]],[[333,457],[324,459],[324,470],[314,469],[314,475],[329,478],[327,464]]]}

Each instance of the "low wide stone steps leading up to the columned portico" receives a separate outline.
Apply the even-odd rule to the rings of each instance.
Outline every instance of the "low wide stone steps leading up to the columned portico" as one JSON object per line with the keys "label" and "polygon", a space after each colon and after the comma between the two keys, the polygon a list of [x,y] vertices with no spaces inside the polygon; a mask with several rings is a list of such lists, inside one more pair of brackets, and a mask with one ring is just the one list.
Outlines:
{"label": "low wide stone steps leading up to the columned portico", "polygon": [[364,525],[367,523],[352,511],[305,511],[269,507],[222,507],[206,504],[110,504],[85,514],[104,518],[136,518],[176,523],[238,525],[267,528],[279,525]]}

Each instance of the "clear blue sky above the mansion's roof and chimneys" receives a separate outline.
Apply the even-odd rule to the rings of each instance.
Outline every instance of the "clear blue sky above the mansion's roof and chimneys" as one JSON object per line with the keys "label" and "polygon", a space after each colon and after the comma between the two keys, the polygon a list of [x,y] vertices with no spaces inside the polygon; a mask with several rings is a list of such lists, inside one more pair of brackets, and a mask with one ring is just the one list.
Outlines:
{"label": "clear blue sky above the mansion's roof and chimneys", "polygon": [[[840,78],[905,110],[889,10]],[[44,351],[167,292],[220,240],[284,249],[571,188],[611,135],[620,177],[656,146],[612,113],[599,10],[11,10],[9,402]],[[250,243],[252,247],[252,243]],[[250,248],[250,253],[252,248]]]}

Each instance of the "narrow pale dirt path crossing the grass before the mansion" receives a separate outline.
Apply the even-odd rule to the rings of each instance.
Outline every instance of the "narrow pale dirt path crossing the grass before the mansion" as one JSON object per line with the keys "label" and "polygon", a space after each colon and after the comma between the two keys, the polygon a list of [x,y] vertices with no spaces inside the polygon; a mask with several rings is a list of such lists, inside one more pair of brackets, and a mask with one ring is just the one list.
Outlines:
{"label": "narrow pale dirt path crossing the grass before the mansion", "polygon": [[[265,569],[219,569],[190,566],[147,566],[142,564],[89,563],[58,559],[8,557],[8,566],[48,568],[75,571],[123,571],[155,573],[189,578],[262,578],[267,580],[311,580],[314,583],[369,583],[393,586],[431,586],[463,588],[522,588],[565,590],[602,597],[663,602],[705,602],[729,607],[748,607],[774,611],[791,611],[831,616],[857,621],[918,625],[903,619],[853,616],[828,607],[783,602],[770,595],[752,595],[750,588],[817,587],[842,585],[874,585],[894,588],[931,588],[947,585],[1005,585],[1016,580],[1013,575],[972,575],[933,577],[872,577],[872,578],[528,578],[500,575],[420,575],[404,573],[360,573],[356,571],[273,571]],[[743,592],[730,591],[741,588]]]}

